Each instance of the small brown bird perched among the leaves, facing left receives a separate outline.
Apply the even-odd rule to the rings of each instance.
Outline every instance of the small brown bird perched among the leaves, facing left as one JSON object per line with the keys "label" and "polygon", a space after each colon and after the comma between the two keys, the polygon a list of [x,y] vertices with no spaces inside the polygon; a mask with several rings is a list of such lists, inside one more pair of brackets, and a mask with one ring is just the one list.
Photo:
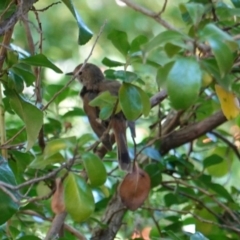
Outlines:
{"label": "small brown bird perched among the leaves, facing left", "polygon": [[[80,96],[83,100],[83,108],[88,116],[90,125],[97,136],[102,139],[103,145],[108,150],[111,150],[111,139],[109,134],[106,133],[110,124],[117,143],[119,165],[123,170],[130,170],[131,160],[128,154],[126,141],[127,120],[125,116],[120,112],[113,115],[111,119],[99,121],[100,109],[89,105],[91,100],[104,91],[109,91],[112,95],[118,96],[121,84],[117,81],[105,80],[102,71],[94,64],[87,63],[79,72],[81,67],[82,64],[78,65],[72,75],[75,76],[78,73],[76,78],[83,85]],[[106,134],[106,136],[103,137],[104,134]]]}

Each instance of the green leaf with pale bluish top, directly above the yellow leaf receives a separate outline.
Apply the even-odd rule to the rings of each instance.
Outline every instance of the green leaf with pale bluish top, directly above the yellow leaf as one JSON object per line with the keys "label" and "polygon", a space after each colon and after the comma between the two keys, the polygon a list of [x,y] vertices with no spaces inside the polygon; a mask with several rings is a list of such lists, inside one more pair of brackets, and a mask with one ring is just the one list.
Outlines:
{"label": "green leaf with pale bluish top, directly above the yellow leaf", "polygon": [[223,43],[222,41],[211,38],[208,40],[208,42],[211,46],[214,56],[216,57],[221,77],[224,77],[232,69],[234,56],[227,44]]}

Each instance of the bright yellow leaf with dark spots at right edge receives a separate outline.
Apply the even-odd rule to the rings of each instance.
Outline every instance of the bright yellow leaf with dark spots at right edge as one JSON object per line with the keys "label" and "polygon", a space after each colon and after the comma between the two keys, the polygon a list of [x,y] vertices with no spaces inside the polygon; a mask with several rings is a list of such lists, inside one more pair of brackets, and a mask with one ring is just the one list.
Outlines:
{"label": "bright yellow leaf with dark spots at right edge", "polygon": [[235,94],[226,91],[220,85],[215,85],[222,111],[228,120],[236,118],[240,113],[239,102]]}

